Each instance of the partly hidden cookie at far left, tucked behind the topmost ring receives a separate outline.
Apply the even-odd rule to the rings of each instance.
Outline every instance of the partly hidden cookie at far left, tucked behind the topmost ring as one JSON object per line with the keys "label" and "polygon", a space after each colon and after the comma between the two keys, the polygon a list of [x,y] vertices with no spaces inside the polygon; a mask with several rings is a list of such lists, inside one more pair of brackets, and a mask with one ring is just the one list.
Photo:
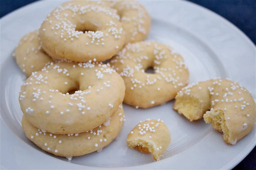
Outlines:
{"label": "partly hidden cookie at far left, tucked behind the topmost ring", "polygon": [[14,57],[20,70],[26,76],[30,76],[32,72],[39,71],[47,63],[52,62],[52,58],[41,48],[38,30],[30,32],[20,39],[15,49]]}

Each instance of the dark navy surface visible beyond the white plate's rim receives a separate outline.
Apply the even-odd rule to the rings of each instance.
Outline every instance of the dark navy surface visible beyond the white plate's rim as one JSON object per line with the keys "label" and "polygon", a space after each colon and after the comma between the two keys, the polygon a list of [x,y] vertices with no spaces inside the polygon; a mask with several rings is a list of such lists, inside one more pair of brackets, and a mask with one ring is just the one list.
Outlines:
{"label": "dark navy surface visible beyond the white plate's rim", "polygon": [[[0,17],[37,0],[0,0]],[[256,44],[256,0],[189,0],[221,15]],[[256,149],[233,170],[255,170]]]}

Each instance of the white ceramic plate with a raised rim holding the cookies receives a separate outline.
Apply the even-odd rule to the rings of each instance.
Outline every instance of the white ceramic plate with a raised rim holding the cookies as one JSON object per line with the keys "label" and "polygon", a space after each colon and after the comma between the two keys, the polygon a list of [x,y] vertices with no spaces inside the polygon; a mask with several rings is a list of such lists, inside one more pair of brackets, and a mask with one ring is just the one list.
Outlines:
{"label": "white ceramic plate with a raised rim holding the cookies", "polygon": [[[26,80],[12,57],[19,39],[38,28],[63,1],[39,1],[1,19],[1,169],[231,169],[255,146],[255,128],[234,146],[203,120],[189,122],[173,111],[173,101],[147,110],[124,105],[126,122],[118,140],[101,153],[68,161],[48,154],[24,135],[18,102]],[[255,46],[234,25],[187,1],[142,1],[152,16],[149,40],[179,51],[190,71],[190,83],[214,77],[237,80],[255,98]],[[172,142],[161,161],[126,145],[129,131],[146,118],[161,118]]]}

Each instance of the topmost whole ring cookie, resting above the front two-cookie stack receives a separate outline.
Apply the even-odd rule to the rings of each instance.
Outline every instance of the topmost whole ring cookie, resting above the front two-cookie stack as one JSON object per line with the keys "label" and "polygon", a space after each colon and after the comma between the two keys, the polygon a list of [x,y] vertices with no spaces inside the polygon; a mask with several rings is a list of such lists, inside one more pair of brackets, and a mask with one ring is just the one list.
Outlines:
{"label": "topmost whole ring cookie, resting above the front two-cookie stack", "polygon": [[113,8],[87,1],[64,3],[46,17],[39,29],[42,48],[55,59],[110,59],[125,41],[119,19]]}

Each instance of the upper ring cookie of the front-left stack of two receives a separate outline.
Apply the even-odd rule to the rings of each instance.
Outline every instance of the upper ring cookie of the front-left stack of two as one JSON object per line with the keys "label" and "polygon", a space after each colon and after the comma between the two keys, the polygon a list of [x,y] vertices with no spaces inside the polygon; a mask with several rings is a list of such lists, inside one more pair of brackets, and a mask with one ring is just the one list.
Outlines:
{"label": "upper ring cookie of the front-left stack of two", "polygon": [[122,78],[106,64],[59,62],[34,72],[22,84],[19,102],[25,118],[42,131],[81,133],[106,122],[124,91]]}

